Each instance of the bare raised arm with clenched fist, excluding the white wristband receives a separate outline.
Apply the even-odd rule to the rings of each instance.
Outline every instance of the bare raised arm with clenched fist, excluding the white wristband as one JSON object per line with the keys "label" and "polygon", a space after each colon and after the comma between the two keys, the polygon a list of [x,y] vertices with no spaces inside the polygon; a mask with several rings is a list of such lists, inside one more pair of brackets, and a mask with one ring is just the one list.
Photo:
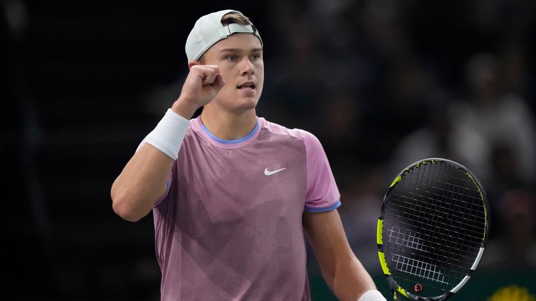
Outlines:
{"label": "bare raised arm with clenched fist, excluding the white wristband", "polygon": [[[171,107],[174,114],[186,119],[190,119],[196,109],[209,103],[225,84],[217,65],[199,65],[198,62],[190,62],[189,67],[190,72],[182,87],[181,95]],[[172,141],[174,138],[172,136],[176,134],[169,130],[162,132],[171,135],[162,137],[163,134],[159,134],[158,140],[164,143],[166,140]],[[178,141],[177,147],[180,143],[181,141]],[[137,222],[149,214],[158,197],[166,190],[165,182],[170,174],[173,160],[156,146],[144,144],[112,184],[110,195],[115,213],[131,222]]]}

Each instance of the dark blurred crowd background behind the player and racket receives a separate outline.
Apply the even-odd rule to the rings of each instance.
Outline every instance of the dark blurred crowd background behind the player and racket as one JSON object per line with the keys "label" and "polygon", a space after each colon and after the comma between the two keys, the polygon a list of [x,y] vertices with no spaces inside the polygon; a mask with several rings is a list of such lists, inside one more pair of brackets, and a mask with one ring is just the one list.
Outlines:
{"label": "dark blurred crowd background behind the player and racket", "polygon": [[[492,208],[489,247],[454,300],[536,294],[534,1],[181,2],[1,2],[2,299],[158,300],[152,219],[115,215],[110,187],[178,97],[195,20],[226,8],[265,43],[258,115],[322,141],[380,291],[385,189],[415,160],[448,157]],[[313,300],[333,300],[309,264]]]}

